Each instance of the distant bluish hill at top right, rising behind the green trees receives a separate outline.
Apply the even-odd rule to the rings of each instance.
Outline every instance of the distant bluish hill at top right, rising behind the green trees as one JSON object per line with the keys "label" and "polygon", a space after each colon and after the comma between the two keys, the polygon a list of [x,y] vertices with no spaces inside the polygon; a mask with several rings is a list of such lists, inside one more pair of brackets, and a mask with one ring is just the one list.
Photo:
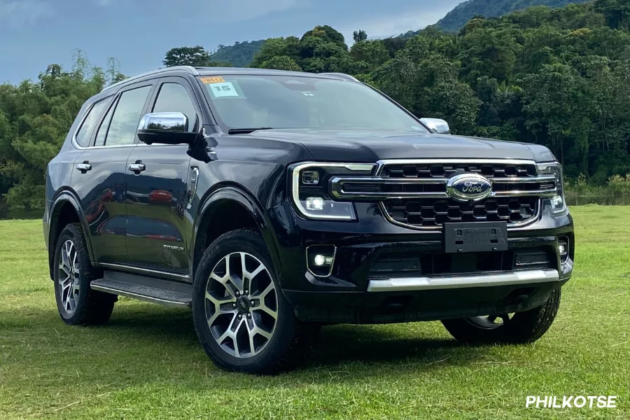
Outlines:
{"label": "distant bluish hill at top right, rising behind the green trees", "polygon": [[568,3],[586,3],[587,1],[589,0],[468,0],[458,4],[444,18],[437,21],[435,26],[444,31],[456,32],[477,15],[497,18],[531,6],[558,8]]}

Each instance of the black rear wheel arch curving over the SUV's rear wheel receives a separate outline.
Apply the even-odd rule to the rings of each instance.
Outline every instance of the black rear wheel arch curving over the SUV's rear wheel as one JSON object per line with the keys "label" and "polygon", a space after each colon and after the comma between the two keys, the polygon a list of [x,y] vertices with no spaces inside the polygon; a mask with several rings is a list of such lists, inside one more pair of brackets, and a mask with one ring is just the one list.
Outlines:
{"label": "black rear wheel arch curving over the SUV's rear wheel", "polygon": [[64,226],[68,223],[80,223],[85,244],[87,244],[87,253],[90,255],[90,260],[94,260],[92,243],[89,235],[87,235],[86,220],[85,212],[80,206],[80,201],[76,195],[69,190],[64,190],[57,194],[50,206],[50,222],[48,223],[48,269],[50,271],[50,279],[52,279],[52,260],[55,258],[57,239]]}

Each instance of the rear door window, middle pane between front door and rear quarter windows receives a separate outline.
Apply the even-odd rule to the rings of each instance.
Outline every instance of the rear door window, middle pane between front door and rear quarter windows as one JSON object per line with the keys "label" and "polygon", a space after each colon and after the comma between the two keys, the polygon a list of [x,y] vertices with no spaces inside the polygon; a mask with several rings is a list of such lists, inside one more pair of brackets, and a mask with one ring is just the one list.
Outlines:
{"label": "rear door window, middle pane between front door and rear quarter windows", "polygon": [[142,109],[150,91],[151,86],[145,86],[127,90],[127,92],[123,92],[120,95],[116,109],[111,117],[111,123],[109,123],[105,146],[134,144]]}

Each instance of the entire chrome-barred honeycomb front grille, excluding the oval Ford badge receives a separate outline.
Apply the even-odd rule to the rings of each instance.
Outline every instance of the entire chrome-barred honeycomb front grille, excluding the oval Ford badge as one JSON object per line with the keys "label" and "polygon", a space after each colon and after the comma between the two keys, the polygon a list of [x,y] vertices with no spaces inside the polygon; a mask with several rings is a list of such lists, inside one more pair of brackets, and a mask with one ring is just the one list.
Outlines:
{"label": "entire chrome-barred honeycomb front grille, excluding the oval Ford badge", "polygon": [[[452,198],[449,180],[474,173],[491,183],[489,196],[463,202]],[[330,193],[345,201],[379,202],[391,223],[439,229],[443,223],[506,222],[525,225],[540,215],[542,199],[556,195],[553,175],[538,175],[531,160],[390,160],[374,176],[335,177]]]}

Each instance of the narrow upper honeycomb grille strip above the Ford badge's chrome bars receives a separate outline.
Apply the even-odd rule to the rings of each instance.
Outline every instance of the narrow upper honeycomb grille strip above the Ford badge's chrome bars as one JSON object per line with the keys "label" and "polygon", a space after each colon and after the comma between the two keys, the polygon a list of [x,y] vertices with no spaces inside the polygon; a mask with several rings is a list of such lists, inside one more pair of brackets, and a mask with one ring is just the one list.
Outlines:
{"label": "narrow upper honeycomb grille strip above the Ford badge's chrome bars", "polygon": [[486,178],[529,178],[536,176],[536,167],[533,164],[510,163],[400,163],[386,165],[381,172],[381,177],[448,178],[463,172],[472,172]]}

